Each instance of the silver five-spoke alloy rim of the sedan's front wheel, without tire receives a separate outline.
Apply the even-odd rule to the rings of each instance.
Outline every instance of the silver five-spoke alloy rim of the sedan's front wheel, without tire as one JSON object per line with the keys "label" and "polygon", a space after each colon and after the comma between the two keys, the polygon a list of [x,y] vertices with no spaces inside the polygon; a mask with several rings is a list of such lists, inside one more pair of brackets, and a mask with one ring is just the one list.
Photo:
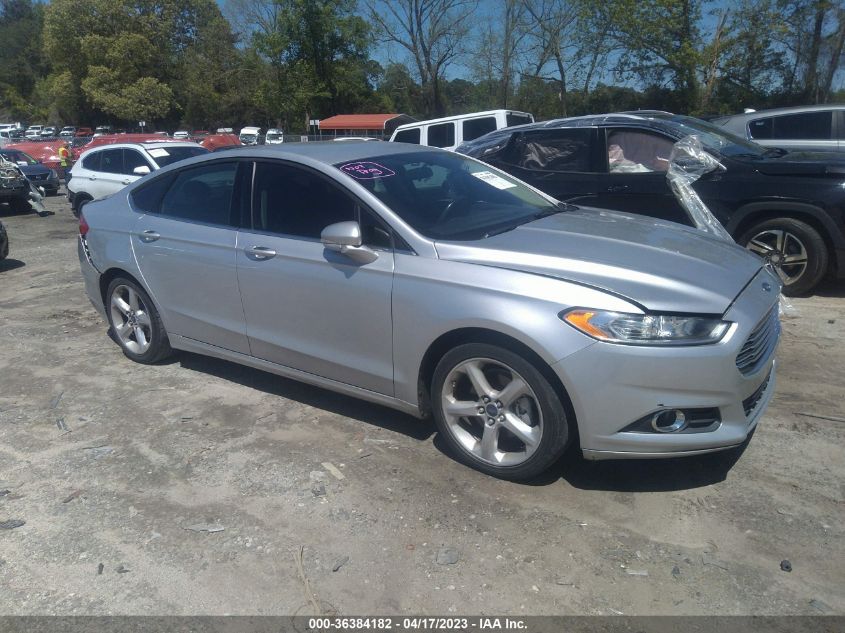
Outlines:
{"label": "silver five-spoke alloy rim of the sedan's front wheel, without tire", "polygon": [[543,437],[543,414],[528,382],[504,363],[471,358],[443,383],[446,427],[475,458],[495,466],[527,461]]}

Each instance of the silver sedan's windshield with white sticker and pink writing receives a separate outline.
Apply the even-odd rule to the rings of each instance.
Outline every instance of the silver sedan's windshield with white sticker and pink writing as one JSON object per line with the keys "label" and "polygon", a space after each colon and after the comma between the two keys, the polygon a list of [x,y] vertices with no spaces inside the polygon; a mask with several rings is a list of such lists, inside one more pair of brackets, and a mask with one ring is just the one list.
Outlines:
{"label": "silver sedan's windshield with white sticker and pink writing", "polygon": [[335,165],[426,237],[478,240],[564,210],[488,165],[420,151]]}

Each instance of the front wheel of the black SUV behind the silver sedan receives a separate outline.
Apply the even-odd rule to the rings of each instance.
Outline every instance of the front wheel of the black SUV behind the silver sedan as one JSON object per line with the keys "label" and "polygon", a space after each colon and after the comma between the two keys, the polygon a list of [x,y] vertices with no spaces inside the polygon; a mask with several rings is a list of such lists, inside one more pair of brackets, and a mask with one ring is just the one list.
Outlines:
{"label": "front wheel of the black SUV behind the silver sedan", "polygon": [[772,265],[783,282],[783,294],[790,297],[812,290],[827,271],[824,239],[801,220],[767,220],[748,230],[739,243]]}

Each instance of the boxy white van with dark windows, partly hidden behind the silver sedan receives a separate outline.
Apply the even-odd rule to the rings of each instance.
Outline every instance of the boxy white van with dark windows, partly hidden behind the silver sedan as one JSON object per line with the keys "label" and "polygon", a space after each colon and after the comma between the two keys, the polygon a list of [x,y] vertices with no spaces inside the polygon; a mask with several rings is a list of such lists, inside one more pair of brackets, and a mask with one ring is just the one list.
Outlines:
{"label": "boxy white van with dark windows, partly hidden behind the silver sedan", "polygon": [[534,116],[516,110],[488,110],[406,123],[396,128],[390,140],[394,143],[414,143],[453,150],[464,141],[472,141],[503,127],[525,123],[534,123]]}

